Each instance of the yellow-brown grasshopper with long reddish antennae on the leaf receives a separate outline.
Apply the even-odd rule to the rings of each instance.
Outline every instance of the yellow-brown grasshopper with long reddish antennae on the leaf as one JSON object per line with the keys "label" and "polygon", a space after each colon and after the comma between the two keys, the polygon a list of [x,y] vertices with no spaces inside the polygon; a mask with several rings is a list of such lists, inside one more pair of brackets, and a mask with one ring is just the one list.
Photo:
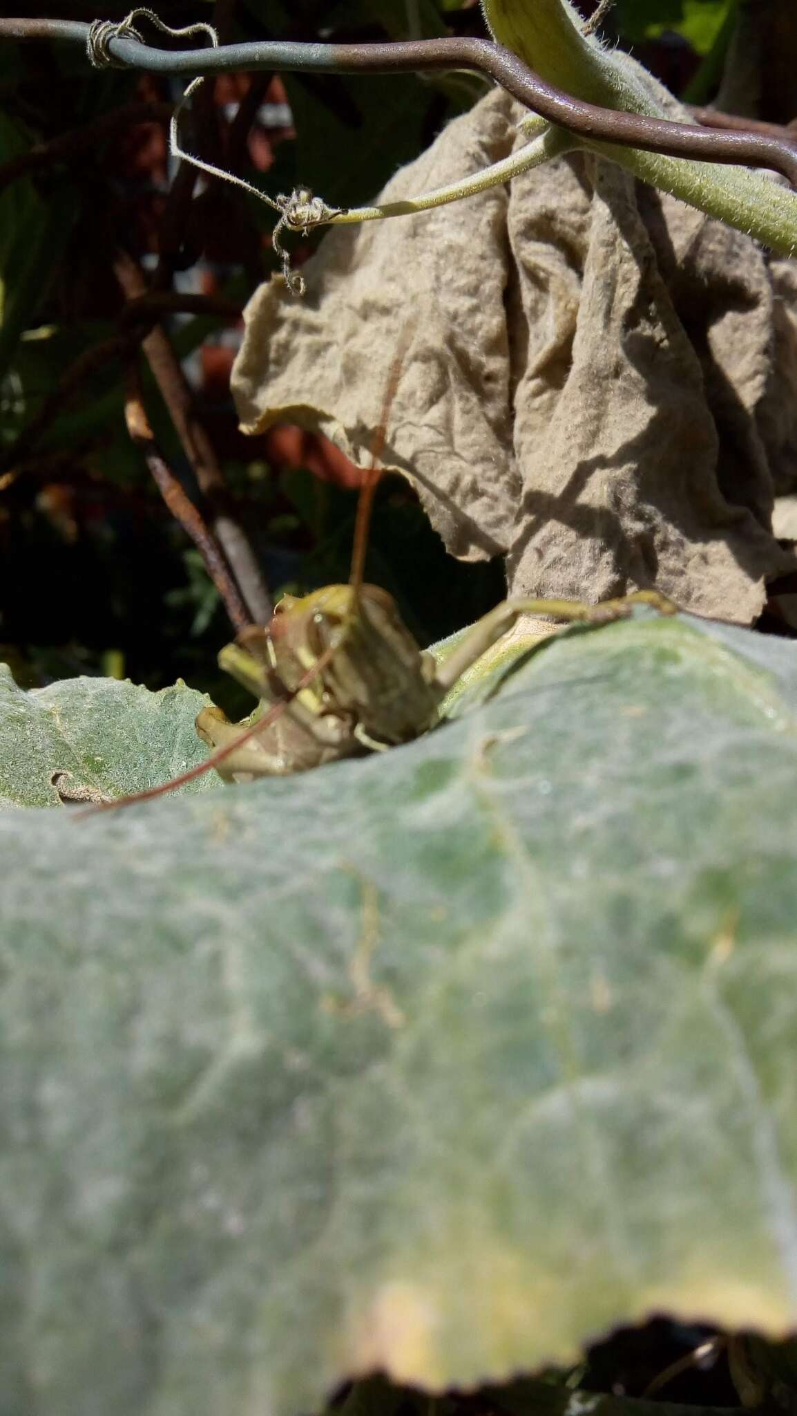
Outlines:
{"label": "yellow-brown grasshopper with long reddish antennae on the leaf", "polygon": [[252,782],[409,742],[439,722],[449,690],[521,615],[604,623],[629,616],[634,603],[675,613],[677,606],[657,590],[599,605],[507,599],[471,626],[445,661],[420,650],[394,598],[362,578],[371,506],[381,477],[377,463],[402,360],[399,351],[371,466],[364,473],[348,585],[327,585],[300,598],[286,595],[266,627],[245,630],[235,644],[221,650],[219,666],[259,700],[259,707],[245,724],[229,722],[221,708],[202,708],[197,732],[212,749],[204,762],[159,787],[89,810],[160,796],[211,767],[224,780]]}

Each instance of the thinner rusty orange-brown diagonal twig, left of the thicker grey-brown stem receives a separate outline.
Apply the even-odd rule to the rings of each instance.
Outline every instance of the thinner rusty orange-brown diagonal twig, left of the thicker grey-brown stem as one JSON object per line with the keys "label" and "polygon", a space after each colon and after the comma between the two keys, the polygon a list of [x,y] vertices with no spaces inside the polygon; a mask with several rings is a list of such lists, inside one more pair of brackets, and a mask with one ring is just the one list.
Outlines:
{"label": "thinner rusty orange-brown diagonal twig, left of the thicker grey-brown stem", "polygon": [[142,399],[140,381],[133,370],[129,378],[130,385],[125,399],[125,422],[130,433],[130,440],[136,447],[142,449],[144,462],[166,506],[187,535],[191,537],[191,541],[202,556],[211,581],[224,600],[235,633],[241,634],[242,630],[251,627],[252,619],[229,573],[221,545],[160,452]]}

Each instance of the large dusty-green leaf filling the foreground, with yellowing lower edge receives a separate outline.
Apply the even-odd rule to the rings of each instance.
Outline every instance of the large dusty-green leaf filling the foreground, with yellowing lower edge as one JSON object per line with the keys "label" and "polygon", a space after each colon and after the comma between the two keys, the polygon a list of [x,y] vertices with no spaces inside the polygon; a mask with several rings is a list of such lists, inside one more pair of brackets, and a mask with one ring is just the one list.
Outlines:
{"label": "large dusty-green leaf filling the foreground, with yellowing lower edge", "polygon": [[[790,643],[643,619],[405,749],[0,814],[3,1410],[294,1413],[651,1311],[794,1325],[796,692]],[[116,786],[185,708],[149,756],[134,707]]]}

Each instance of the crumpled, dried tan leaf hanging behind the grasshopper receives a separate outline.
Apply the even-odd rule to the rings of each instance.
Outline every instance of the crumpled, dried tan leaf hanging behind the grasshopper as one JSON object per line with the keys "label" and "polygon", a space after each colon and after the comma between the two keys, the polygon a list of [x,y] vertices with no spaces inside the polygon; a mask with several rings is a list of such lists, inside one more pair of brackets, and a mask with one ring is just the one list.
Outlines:
{"label": "crumpled, dried tan leaf hanging behind the grasshopper", "polygon": [[[494,91],[384,200],[507,156],[521,112]],[[512,593],[655,585],[749,622],[764,579],[796,568],[772,532],[774,469],[783,481],[797,442],[773,282],[781,296],[793,270],[740,232],[576,154],[511,190],[337,228],[304,275],[304,302],[272,280],[249,303],[242,426],[299,422],[364,464],[416,320],[384,462],[452,554],[507,556]]]}

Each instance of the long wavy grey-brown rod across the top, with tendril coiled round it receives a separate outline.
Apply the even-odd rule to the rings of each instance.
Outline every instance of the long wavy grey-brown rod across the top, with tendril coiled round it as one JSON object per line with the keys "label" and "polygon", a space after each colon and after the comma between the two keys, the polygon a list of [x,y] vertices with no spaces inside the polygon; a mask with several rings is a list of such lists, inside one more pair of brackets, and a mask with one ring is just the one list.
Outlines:
{"label": "long wavy grey-brown rod across the top, with tendril coiled round it", "polygon": [[[89,25],[74,20],[0,18],[0,37],[50,38],[85,44]],[[770,167],[797,187],[797,143],[763,133],[716,132],[643,113],[600,108],[565,93],[528,68],[517,54],[490,40],[447,37],[392,44],[300,44],[289,40],[225,44],[207,50],[157,50],[112,38],[112,58],[159,74],[229,74],[277,69],[320,74],[405,74],[473,69],[501,84],[521,103],[559,127],[597,142],[692,157],[696,161]]]}

